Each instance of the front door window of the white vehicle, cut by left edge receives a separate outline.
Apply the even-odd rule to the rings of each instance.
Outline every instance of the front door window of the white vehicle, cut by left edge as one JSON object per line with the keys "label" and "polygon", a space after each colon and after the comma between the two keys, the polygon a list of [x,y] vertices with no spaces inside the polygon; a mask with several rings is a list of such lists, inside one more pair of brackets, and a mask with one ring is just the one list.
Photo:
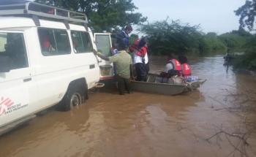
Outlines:
{"label": "front door window of the white vehicle, cut by left edge", "polygon": [[22,33],[0,33],[0,55],[10,58],[11,69],[29,66]]}

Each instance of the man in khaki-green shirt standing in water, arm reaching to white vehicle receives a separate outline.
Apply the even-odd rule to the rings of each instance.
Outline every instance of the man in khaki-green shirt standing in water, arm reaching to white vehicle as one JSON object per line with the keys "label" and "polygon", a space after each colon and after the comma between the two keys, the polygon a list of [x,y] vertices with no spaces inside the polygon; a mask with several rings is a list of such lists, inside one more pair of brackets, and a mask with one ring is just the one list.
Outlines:
{"label": "man in khaki-green shirt standing in water, arm reaching to white vehicle", "polygon": [[118,53],[110,57],[102,55],[101,53],[97,52],[97,50],[94,50],[94,54],[98,55],[99,58],[102,58],[105,61],[112,61],[116,64],[116,81],[118,84],[118,92],[120,95],[124,95],[124,89],[126,89],[128,93],[131,93],[129,79],[131,76],[130,69],[132,68],[132,58],[126,51],[124,40],[117,39],[116,47],[118,49]]}

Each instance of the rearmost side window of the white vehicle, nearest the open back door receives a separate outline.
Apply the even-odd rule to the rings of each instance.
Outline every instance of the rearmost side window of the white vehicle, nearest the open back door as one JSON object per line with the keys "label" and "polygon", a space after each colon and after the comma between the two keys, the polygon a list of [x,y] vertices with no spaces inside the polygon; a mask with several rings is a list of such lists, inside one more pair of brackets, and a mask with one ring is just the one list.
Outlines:
{"label": "rearmost side window of the white vehicle, nearest the open back door", "polygon": [[88,32],[71,31],[71,36],[75,53],[92,52],[91,38]]}

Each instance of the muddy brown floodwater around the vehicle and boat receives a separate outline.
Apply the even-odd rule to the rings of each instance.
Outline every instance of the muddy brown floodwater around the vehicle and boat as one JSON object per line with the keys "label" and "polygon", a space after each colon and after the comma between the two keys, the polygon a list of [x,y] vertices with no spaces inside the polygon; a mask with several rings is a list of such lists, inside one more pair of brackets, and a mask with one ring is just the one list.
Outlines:
{"label": "muddy brown floodwater around the vehicle and boat", "polygon": [[[191,60],[193,75],[208,79],[198,91],[180,96],[91,93],[71,112],[51,110],[0,137],[0,156],[241,156],[234,151],[241,142],[236,138],[206,139],[219,130],[249,130],[241,123],[245,113],[227,107],[241,93],[254,92],[255,77],[226,69],[222,56]],[[164,64],[164,58],[153,58],[151,71]],[[248,156],[256,156],[254,132],[247,142]]]}

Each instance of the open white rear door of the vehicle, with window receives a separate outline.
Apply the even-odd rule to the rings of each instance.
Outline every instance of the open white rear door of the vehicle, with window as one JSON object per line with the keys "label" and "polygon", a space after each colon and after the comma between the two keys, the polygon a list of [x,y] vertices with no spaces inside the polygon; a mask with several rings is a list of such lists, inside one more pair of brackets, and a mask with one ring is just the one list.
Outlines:
{"label": "open white rear door of the vehicle, with window", "polygon": [[[95,44],[99,53],[105,56],[111,56],[111,37],[109,33],[95,33],[94,34]],[[110,61],[105,61],[99,58],[99,69],[100,69],[100,80],[110,80],[113,79],[114,70],[113,63]]]}

